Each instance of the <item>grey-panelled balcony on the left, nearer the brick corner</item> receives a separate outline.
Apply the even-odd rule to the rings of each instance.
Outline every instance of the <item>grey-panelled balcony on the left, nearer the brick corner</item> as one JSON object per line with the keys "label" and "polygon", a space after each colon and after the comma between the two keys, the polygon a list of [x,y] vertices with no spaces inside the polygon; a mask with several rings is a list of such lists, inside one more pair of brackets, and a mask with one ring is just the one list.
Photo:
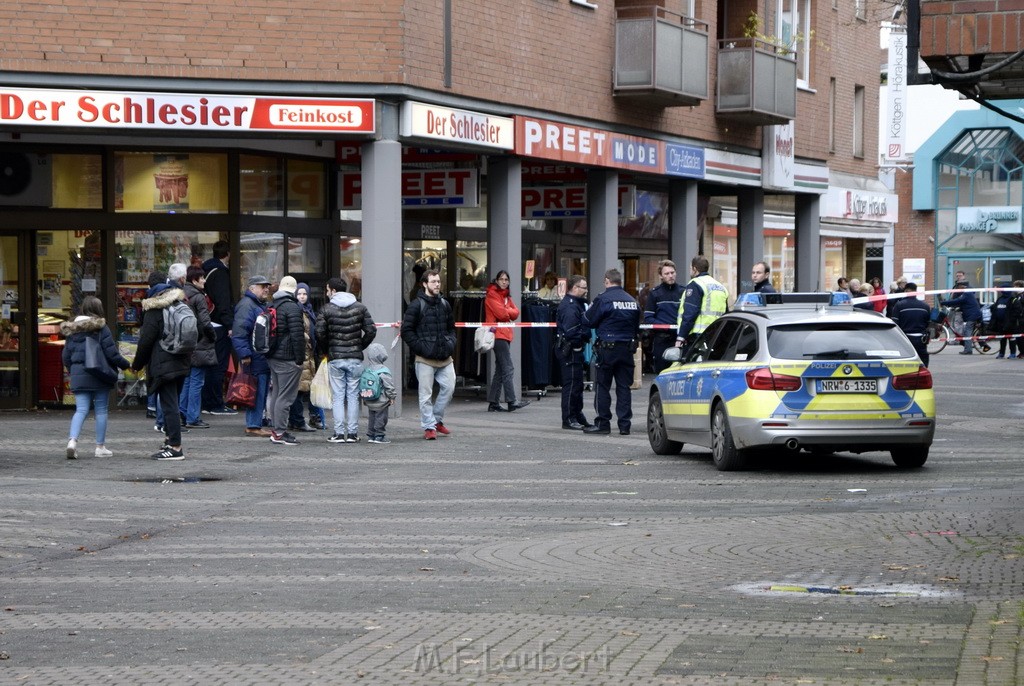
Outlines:
{"label": "grey-panelled balcony on the left, nearer the brick corner", "polygon": [[616,97],[662,106],[708,99],[708,25],[664,7],[615,12]]}

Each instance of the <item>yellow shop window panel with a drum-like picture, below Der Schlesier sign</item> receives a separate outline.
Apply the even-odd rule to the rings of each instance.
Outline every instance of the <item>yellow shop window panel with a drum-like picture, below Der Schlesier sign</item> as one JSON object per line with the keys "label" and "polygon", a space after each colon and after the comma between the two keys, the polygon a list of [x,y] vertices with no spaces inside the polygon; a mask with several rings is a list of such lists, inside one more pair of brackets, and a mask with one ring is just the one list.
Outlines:
{"label": "yellow shop window panel with a drum-like picture, below Der Schlesier sign", "polygon": [[115,153],[117,212],[227,212],[227,156],[216,153]]}

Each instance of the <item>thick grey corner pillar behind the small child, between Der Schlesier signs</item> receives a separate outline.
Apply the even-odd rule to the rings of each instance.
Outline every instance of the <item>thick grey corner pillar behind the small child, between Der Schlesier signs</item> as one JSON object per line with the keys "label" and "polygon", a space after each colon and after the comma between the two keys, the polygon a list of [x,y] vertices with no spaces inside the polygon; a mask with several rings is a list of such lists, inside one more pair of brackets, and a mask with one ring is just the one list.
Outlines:
{"label": "thick grey corner pillar behind the small child, between Der Schlesier signs", "polygon": [[[401,320],[401,144],[376,140],[362,145],[362,303],[377,323]],[[337,250],[337,247],[335,247]],[[403,388],[402,350],[391,342],[397,329],[380,328],[374,342],[388,350],[388,368]],[[401,416],[401,403],[391,405]]]}

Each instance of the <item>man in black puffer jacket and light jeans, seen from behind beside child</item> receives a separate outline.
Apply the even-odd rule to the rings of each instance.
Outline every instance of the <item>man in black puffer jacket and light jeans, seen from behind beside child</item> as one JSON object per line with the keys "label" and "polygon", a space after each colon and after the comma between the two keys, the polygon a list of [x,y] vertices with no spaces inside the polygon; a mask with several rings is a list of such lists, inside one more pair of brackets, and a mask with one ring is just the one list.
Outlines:
{"label": "man in black puffer jacket and light jeans, seen from behind beside child", "polygon": [[334,435],[331,443],[359,441],[359,375],[362,351],[377,336],[370,310],[348,293],[344,278],[327,282],[328,302],[316,313],[316,346],[328,358],[334,397]]}

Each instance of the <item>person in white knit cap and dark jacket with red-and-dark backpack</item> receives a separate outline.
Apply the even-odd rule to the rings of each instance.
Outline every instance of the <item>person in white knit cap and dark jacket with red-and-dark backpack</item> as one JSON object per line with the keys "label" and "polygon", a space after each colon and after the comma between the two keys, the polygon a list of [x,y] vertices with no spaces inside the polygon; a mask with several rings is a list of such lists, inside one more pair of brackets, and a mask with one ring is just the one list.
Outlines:
{"label": "person in white knit cap and dark jacket with red-and-dark backpack", "polygon": [[273,431],[270,442],[298,445],[299,441],[288,433],[288,415],[299,394],[302,363],[306,360],[306,334],[302,308],[295,298],[298,284],[294,276],[281,280],[270,305],[276,312],[276,347],[270,350],[270,419]]}

